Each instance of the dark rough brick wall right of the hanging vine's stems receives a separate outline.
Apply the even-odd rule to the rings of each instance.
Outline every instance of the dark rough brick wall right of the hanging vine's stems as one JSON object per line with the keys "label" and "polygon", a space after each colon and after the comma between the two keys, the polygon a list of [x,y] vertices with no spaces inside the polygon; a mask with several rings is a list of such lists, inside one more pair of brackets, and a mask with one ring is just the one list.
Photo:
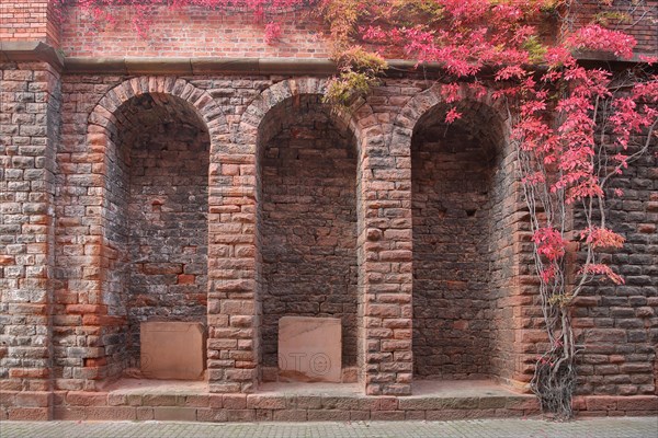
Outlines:
{"label": "dark rough brick wall right of the hanging vine's stems", "polygon": [[[626,242],[604,260],[625,284],[591,285],[577,303],[574,326],[583,345],[578,367],[582,394],[658,394],[657,152],[654,142],[610,187],[609,226]],[[623,197],[613,188],[621,188]]]}

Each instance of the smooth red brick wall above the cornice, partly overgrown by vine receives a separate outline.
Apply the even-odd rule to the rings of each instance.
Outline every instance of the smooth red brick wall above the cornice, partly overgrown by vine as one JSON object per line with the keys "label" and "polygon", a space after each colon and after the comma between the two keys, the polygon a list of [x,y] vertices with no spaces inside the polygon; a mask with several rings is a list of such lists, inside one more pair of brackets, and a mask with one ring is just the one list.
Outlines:
{"label": "smooth red brick wall above the cornice, partly overgrown by vine", "polygon": [[[14,4],[18,3],[10,3],[10,8],[21,8]],[[580,26],[595,20],[601,12],[611,10],[628,12],[632,16],[629,22],[612,20],[610,24],[635,36],[638,54],[658,53],[656,0],[621,0],[612,7],[601,4],[598,0],[586,0],[575,5],[571,19],[576,26]],[[264,22],[271,18],[258,19],[253,13],[239,9],[219,11],[197,7],[154,7],[156,19],[152,20],[146,38],[135,32],[133,15],[126,7],[116,7],[114,12],[116,22],[99,25],[78,8],[65,9],[60,42],[64,53],[67,56],[292,58],[327,58],[331,53],[326,26],[305,10],[288,11],[273,18],[282,28],[282,36],[273,44],[268,44],[264,39]],[[540,23],[540,27],[546,39],[551,41],[555,30],[543,28],[546,23],[553,21],[544,21]]]}

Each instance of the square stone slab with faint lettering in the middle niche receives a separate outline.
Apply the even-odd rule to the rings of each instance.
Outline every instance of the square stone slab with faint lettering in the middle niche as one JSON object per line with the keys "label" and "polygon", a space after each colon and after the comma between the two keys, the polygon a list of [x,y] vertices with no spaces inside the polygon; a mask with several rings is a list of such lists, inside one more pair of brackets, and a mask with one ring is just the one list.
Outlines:
{"label": "square stone slab with faint lettering in the middle niche", "polygon": [[279,378],[303,382],[340,382],[339,318],[283,316],[279,320]]}

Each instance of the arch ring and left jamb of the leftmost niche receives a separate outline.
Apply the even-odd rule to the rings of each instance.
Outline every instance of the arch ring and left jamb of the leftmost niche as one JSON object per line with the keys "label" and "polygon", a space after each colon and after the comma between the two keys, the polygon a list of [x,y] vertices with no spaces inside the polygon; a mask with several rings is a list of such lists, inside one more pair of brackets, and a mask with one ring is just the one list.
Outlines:
{"label": "arch ring and left jamb of the leftmost niche", "polygon": [[[125,260],[122,257],[125,255],[117,250],[118,246],[112,238],[117,221],[127,220],[122,217],[127,212],[122,212],[121,209],[117,212],[115,204],[117,195],[114,192],[117,187],[123,187],[124,183],[117,185],[113,180],[121,180],[123,174],[123,171],[116,170],[120,155],[117,135],[122,125],[126,124],[122,108],[137,97],[146,95],[151,96],[156,102],[168,100],[173,104],[170,112],[174,116],[185,114],[186,117],[195,118],[194,124],[205,131],[204,136],[207,136],[211,155],[213,151],[222,148],[223,141],[227,138],[228,125],[220,106],[205,90],[174,77],[151,76],[125,80],[105,92],[89,114],[87,148],[92,152],[88,159],[92,171],[89,182],[83,184],[90,194],[93,193],[99,197],[100,206],[94,218],[95,227],[90,227],[88,231],[89,240],[94,243],[94,251],[90,253],[91,266],[89,274],[83,273],[86,287],[94,291],[93,301],[90,299],[90,303],[94,306],[86,308],[83,315],[88,316],[89,325],[98,326],[99,332],[106,339],[112,339],[103,345],[104,353],[91,357],[93,360],[86,360],[83,365],[88,367],[88,364],[100,364],[93,374],[83,369],[83,372],[87,371],[86,374],[90,376],[89,379],[93,380],[116,378],[126,366],[131,366],[128,355],[123,351],[128,336],[127,301],[125,296],[116,296],[117,290],[123,290],[121,286],[123,284],[117,283],[123,280],[117,278],[125,277],[122,274],[125,269],[123,267]],[[212,165],[211,163],[208,172],[212,172]],[[120,219],[116,219],[117,217]],[[88,388],[92,387],[88,384]]]}

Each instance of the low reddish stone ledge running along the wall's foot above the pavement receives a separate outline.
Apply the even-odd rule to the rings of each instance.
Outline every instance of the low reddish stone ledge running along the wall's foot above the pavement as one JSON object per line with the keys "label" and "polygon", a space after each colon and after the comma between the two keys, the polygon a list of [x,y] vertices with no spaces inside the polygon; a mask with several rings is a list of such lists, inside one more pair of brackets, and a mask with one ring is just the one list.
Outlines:
{"label": "low reddish stone ledge running along the wall's foot above the pavement", "polygon": [[[376,419],[469,419],[540,415],[534,395],[366,396],[292,394],[131,394],[61,392],[54,408],[42,406],[43,392],[0,393],[0,418],[161,419],[197,422],[305,422]],[[138,399],[138,400],[137,400]],[[49,403],[49,402],[48,402]],[[38,407],[37,407],[38,406]],[[52,413],[50,413],[52,410]],[[574,399],[577,416],[655,415],[656,395],[586,395]]]}

